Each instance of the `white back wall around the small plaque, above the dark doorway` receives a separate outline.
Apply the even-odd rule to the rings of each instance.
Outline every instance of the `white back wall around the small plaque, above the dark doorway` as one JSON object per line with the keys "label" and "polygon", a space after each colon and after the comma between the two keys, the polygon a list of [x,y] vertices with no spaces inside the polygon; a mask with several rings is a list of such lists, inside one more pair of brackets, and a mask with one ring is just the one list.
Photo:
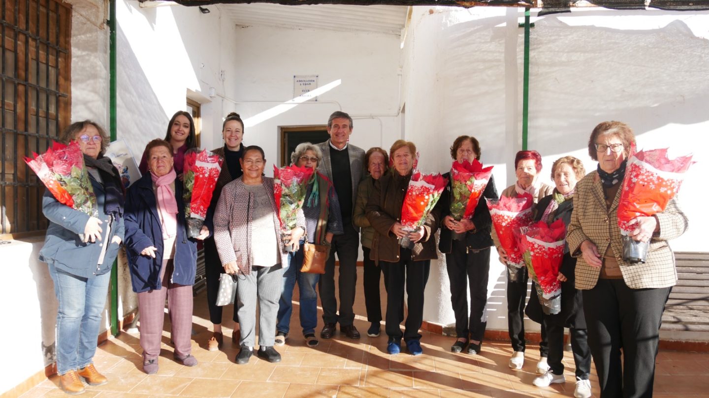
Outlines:
{"label": "white back wall around the small plaque, above the dark doorway", "polygon": [[[245,120],[244,142],[264,148],[267,175],[279,159],[279,126],[325,125],[342,110],[354,118],[354,145],[389,148],[399,137],[398,35],[243,27],[232,44],[234,91],[225,96]],[[293,76],[310,74],[333,88],[318,101],[284,105],[294,97]]]}

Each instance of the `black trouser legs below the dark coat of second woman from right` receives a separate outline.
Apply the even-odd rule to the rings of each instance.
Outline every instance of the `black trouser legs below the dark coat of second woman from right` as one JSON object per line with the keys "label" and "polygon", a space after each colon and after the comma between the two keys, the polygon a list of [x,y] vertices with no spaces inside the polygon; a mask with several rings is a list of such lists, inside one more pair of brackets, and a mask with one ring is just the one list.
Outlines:
{"label": "black trouser legs below the dark coat of second woman from right", "polygon": [[[549,339],[549,368],[554,375],[564,374],[564,326],[547,324],[547,339]],[[586,329],[569,329],[571,352],[574,353],[576,377],[588,380],[591,374],[591,349],[588,348],[588,332]]]}

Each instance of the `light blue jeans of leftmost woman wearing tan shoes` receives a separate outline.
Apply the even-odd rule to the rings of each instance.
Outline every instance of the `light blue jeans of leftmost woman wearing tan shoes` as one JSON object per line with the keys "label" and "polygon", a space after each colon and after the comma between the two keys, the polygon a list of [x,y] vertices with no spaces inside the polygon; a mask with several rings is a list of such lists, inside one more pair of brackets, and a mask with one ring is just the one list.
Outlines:
{"label": "light blue jeans of leftmost woman wearing tan shoes", "polygon": [[57,373],[85,368],[93,363],[106,306],[111,273],[82,278],[49,264],[57,295]]}

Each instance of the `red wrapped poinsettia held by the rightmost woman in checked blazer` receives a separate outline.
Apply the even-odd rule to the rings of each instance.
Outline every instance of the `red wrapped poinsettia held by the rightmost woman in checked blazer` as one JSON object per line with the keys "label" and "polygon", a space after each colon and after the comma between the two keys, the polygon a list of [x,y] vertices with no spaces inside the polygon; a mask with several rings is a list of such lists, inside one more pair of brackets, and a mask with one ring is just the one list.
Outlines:
{"label": "red wrapped poinsettia held by the rightmost woman in checked blazer", "polygon": [[679,191],[692,155],[668,159],[667,149],[631,150],[627,159],[620,202],[618,227],[629,234],[635,229],[631,220],[664,211],[669,200]]}

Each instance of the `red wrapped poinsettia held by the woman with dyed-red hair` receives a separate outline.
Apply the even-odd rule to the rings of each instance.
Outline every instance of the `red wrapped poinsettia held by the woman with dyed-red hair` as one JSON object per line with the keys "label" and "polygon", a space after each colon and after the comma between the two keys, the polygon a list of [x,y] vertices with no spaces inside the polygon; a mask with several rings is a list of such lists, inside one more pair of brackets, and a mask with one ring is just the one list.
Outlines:
{"label": "red wrapped poinsettia held by the woman with dyed-red hair", "polygon": [[505,249],[508,262],[512,265],[524,266],[522,251],[520,250],[519,231],[532,222],[532,195],[525,193],[517,198],[502,196],[499,200],[488,199],[488,209],[492,218],[493,227],[500,240],[500,246]]}

